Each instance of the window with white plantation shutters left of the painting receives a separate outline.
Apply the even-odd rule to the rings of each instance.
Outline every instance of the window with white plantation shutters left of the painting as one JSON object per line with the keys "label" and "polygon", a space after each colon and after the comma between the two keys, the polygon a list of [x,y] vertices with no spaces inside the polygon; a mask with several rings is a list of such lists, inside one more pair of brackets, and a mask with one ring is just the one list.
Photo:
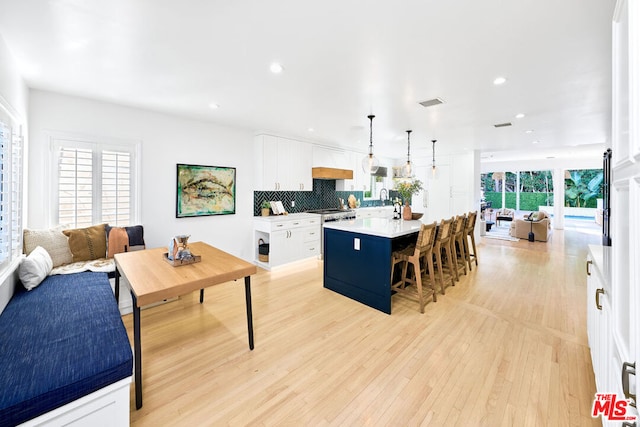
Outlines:
{"label": "window with white plantation shutters left of the painting", "polygon": [[54,139],[57,170],[55,222],[70,228],[137,222],[137,144]]}

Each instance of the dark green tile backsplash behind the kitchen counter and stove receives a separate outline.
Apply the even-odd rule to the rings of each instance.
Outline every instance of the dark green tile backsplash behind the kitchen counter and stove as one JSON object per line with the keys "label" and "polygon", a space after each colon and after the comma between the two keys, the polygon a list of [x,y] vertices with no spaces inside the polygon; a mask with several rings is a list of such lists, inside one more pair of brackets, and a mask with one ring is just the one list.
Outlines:
{"label": "dark green tile backsplash behind the kitchen counter and stove", "polygon": [[[389,192],[389,197],[395,197],[395,191]],[[289,213],[305,212],[310,209],[326,209],[340,207],[339,198],[345,203],[350,194],[356,199],[360,199],[360,207],[380,206],[380,200],[363,200],[362,191],[336,191],[336,181],[333,179],[314,179],[312,191],[254,191],[253,192],[253,215],[260,215],[260,205],[263,201],[280,200],[284,208]],[[291,202],[295,206],[291,206]],[[390,200],[386,204],[391,204]]]}

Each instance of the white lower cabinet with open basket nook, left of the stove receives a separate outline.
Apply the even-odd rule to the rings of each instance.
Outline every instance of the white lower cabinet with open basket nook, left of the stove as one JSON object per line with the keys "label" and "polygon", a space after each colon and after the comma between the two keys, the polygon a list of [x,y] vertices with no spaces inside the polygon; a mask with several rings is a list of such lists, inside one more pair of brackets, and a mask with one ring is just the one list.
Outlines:
{"label": "white lower cabinet with open basket nook, left of the stove", "polygon": [[[320,215],[291,214],[256,217],[254,219],[255,260],[259,266],[271,269],[290,262],[320,255]],[[262,240],[269,244],[268,261],[259,258]]]}

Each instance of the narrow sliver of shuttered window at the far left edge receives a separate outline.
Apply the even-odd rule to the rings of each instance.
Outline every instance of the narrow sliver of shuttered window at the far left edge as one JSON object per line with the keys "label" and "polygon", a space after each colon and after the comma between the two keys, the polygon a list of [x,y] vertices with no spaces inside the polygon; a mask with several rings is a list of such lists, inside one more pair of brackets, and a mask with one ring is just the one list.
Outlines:
{"label": "narrow sliver of shuttered window at the far left edge", "polygon": [[22,127],[0,109],[0,271],[22,254]]}

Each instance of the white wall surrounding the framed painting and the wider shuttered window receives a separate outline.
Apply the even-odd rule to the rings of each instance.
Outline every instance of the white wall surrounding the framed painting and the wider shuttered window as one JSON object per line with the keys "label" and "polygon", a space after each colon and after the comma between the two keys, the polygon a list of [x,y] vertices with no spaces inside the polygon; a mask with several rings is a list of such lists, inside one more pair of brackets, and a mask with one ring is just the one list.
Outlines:
{"label": "white wall surrounding the framed painting and the wider shuttered window", "polygon": [[[31,170],[25,226],[52,225],[53,170],[49,135],[64,132],[141,143],[140,224],[147,247],[166,246],[176,234],[205,241],[252,260],[253,132],[115,104],[32,90],[29,98]],[[176,218],[176,164],[236,168],[236,214]]]}

